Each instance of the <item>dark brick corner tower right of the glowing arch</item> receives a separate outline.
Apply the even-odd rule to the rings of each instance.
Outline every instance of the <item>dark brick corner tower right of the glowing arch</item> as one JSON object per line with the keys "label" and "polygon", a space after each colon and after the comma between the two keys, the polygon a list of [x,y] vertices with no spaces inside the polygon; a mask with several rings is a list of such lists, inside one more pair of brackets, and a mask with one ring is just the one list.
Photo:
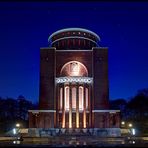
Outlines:
{"label": "dark brick corner tower right of the glowing arch", "polygon": [[93,49],[93,109],[109,109],[108,91],[108,49]]}

